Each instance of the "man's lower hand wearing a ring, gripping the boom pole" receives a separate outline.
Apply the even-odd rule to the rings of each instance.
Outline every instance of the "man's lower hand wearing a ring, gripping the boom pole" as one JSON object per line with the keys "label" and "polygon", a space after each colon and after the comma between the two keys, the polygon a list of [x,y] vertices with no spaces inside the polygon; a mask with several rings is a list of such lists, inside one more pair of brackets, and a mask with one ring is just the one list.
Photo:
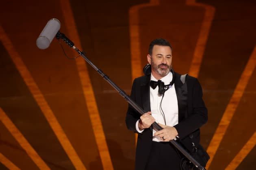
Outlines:
{"label": "man's lower hand wearing a ring, gripping the boom pole", "polygon": [[161,123],[158,123],[161,127],[163,127],[162,130],[159,130],[158,132],[154,133],[154,136],[158,136],[163,141],[168,142],[170,140],[173,140],[178,136],[178,132],[175,127],[163,125]]}

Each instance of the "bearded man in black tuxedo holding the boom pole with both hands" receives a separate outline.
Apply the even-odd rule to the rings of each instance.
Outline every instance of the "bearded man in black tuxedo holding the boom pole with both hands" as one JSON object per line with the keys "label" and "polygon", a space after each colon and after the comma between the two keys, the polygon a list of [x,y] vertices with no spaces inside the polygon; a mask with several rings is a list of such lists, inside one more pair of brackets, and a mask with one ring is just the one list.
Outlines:
{"label": "bearded man in black tuxedo holding the boom pole with both hands", "polygon": [[[196,149],[199,128],[208,120],[202,87],[189,75],[182,82],[172,70],[172,47],[167,40],[153,40],[147,59],[151,73],[133,81],[130,96],[147,113],[141,116],[129,104],[126,114],[128,129],[138,134],[135,169],[180,170],[184,156],[169,141],[178,139],[190,152]],[[152,128],[155,121],[163,130]]]}

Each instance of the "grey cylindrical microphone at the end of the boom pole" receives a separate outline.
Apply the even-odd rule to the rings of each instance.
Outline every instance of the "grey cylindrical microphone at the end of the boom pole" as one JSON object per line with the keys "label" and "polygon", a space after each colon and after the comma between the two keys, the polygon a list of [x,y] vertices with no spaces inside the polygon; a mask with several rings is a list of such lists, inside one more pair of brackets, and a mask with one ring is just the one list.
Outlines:
{"label": "grey cylindrical microphone at the end of the boom pole", "polygon": [[61,28],[61,22],[56,19],[50,19],[46,26],[43,28],[43,31],[37,38],[37,47],[39,49],[47,49],[52,42],[52,39],[56,36],[57,32]]}

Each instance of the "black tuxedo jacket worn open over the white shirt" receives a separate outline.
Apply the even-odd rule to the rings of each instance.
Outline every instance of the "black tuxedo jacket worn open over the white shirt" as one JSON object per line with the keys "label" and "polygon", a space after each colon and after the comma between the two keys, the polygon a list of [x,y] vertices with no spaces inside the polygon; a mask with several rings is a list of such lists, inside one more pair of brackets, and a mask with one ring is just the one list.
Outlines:
{"label": "black tuxedo jacket worn open over the white shirt", "polygon": [[[200,142],[199,128],[208,120],[207,109],[202,100],[202,87],[198,80],[187,75],[187,87],[184,89],[180,74],[175,73],[175,91],[178,100],[178,124],[174,127],[178,131],[180,142],[192,152],[192,142],[195,145]],[[183,93],[187,90],[187,100],[184,101]],[[131,96],[143,110],[150,111],[150,75],[136,78],[132,84]],[[140,119],[140,113],[130,104],[126,114],[126,125],[129,130],[136,133],[136,122]],[[152,126],[138,133],[135,157],[135,169],[144,170],[152,145]],[[171,159],[171,158],[170,158]]]}

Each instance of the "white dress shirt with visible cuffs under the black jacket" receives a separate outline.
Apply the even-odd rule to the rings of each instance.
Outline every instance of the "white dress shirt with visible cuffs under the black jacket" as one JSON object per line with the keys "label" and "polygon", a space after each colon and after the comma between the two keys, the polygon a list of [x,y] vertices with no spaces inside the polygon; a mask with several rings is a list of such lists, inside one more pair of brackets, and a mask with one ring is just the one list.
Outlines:
{"label": "white dress shirt with visible cuffs under the black jacket", "polygon": [[[160,80],[163,81],[165,85],[168,85],[170,84],[172,77],[173,77],[172,73],[169,72],[169,74],[167,74],[165,77],[163,77]],[[151,74],[150,80],[157,81],[152,74]],[[177,95],[175,91],[175,86],[172,85],[172,87],[170,87],[167,91],[165,91],[165,95],[163,97],[163,101],[161,104],[163,112],[160,108],[160,102],[162,100],[162,97],[163,95],[162,96],[158,95],[158,86],[155,89],[152,89],[152,87],[150,87],[151,114],[156,120],[156,123],[165,124],[165,121],[166,121],[167,126],[174,126],[178,124],[178,100],[177,100]],[[165,121],[164,121],[163,115],[165,115]],[[136,122],[136,130],[139,133],[142,133],[143,130],[139,130],[138,124],[139,124],[139,121]],[[155,132],[156,131],[153,129],[153,134]],[[158,138],[157,136],[153,136],[153,141],[161,142],[163,140],[161,138]]]}

